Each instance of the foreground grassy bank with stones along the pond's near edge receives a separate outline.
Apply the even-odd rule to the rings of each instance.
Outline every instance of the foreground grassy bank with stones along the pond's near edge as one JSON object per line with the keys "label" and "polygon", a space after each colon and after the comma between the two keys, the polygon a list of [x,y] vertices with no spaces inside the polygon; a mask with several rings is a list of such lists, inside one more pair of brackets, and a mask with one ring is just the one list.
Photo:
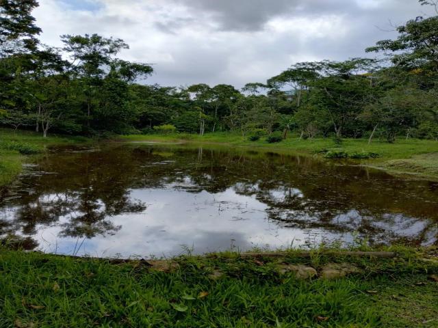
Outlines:
{"label": "foreground grassy bank with stones along the pond's near edge", "polygon": [[[147,262],[68,258],[0,248],[1,327],[437,327],[437,251],[396,258],[315,252]],[[433,255],[430,255],[433,254]],[[281,271],[328,262],[357,273],[298,279]]]}

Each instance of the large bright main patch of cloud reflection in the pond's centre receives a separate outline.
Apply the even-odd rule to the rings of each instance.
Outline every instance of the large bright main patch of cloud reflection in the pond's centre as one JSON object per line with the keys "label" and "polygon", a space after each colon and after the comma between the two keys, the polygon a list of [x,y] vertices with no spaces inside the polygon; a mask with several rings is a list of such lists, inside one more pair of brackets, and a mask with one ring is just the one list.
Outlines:
{"label": "large bright main patch of cloud reflection in the pond's centre", "polygon": [[[114,236],[79,238],[79,255],[91,256],[172,256],[193,247],[196,254],[209,251],[253,247],[287,247],[302,245],[309,231],[283,229],[266,219],[266,205],[255,197],[237,195],[232,188],[223,193],[206,191],[193,194],[167,189],[133,191],[133,197],[148,205],[143,213],[117,215],[111,219],[123,226]],[[225,213],[224,213],[225,212]],[[239,220],[233,219],[238,217]],[[65,217],[62,223],[68,221]],[[42,227],[40,227],[42,228]],[[60,226],[38,231],[36,238],[45,251],[72,254],[77,238],[59,238]],[[313,231],[315,241],[322,241],[324,231]]]}

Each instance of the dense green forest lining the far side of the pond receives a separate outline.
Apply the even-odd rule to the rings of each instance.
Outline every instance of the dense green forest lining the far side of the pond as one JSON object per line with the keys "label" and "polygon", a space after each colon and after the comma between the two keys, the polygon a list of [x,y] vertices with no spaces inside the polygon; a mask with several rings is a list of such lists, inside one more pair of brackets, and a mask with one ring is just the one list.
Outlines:
{"label": "dense green forest lining the far side of the pond", "polygon": [[[42,44],[36,0],[0,1],[0,124],[73,135],[234,131],[257,139],[438,139],[438,16],[396,27],[377,59],[301,62],[264,83],[147,85],[153,66],[97,34]],[[420,0],[438,15],[438,1]],[[370,29],[375,28],[371,27]]]}

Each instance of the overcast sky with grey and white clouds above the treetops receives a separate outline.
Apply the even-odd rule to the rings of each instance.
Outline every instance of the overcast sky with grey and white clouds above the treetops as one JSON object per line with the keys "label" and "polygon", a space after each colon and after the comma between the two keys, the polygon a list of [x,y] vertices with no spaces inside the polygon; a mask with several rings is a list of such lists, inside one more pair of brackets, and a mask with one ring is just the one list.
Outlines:
{"label": "overcast sky with grey and white clouds above the treetops", "polygon": [[122,38],[131,49],[120,57],[154,64],[147,83],[242,87],[298,61],[365,56],[428,12],[416,0],[40,0],[34,16],[47,44]]}

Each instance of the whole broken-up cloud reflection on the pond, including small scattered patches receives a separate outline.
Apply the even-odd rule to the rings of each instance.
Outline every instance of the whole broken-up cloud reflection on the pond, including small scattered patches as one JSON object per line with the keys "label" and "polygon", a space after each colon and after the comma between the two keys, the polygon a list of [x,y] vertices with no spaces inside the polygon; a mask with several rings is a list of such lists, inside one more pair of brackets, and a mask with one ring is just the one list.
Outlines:
{"label": "whole broken-up cloud reflection on the pond, including small scattered patches", "polygon": [[[107,217],[112,225],[123,227],[113,236],[98,234],[91,239],[61,238],[62,229],[71,221],[72,215],[81,214],[77,212],[62,215],[52,226],[38,224],[35,238],[40,243],[39,248],[58,254],[103,257],[174,256],[184,253],[185,247],[195,254],[202,254],[231,248],[242,251],[253,247],[275,249],[289,246],[292,240],[294,246],[305,245],[307,241],[314,244],[333,239],[350,243],[353,239],[351,233],[363,226],[364,221],[367,221],[365,226],[378,229],[379,234],[392,232],[407,237],[415,237],[426,226],[424,221],[413,223],[415,219],[403,215],[386,214],[381,221],[373,221],[372,217],[350,210],[325,221],[348,230],[344,233],[330,231],[320,224],[318,215],[302,210],[270,208],[257,200],[256,195],[236,193],[242,190],[243,184],[215,194],[207,191],[190,193],[190,190],[179,189],[181,184],[192,187],[186,178],[172,184],[170,189],[131,190],[131,197],[146,203],[146,209],[141,213]],[[298,189],[270,190],[268,195],[277,202],[285,202],[289,195],[302,197]],[[53,195],[45,195],[42,199],[55,200]],[[13,219],[14,210],[17,208],[3,208],[4,218]],[[268,219],[268,213],[273,211],[283,222]],[[318,226],[311,226],[313,223]],[[433,234],[429,237],[433,238]]]}

